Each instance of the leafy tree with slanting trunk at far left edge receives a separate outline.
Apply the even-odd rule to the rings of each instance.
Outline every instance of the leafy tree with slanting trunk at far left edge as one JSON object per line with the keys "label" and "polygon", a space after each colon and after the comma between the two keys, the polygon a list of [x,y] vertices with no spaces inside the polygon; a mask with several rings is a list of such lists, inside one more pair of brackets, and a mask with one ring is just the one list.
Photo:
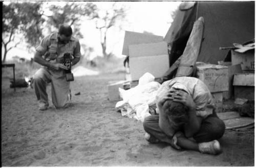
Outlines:
{"label": "leafy tree with slanting trunk at far left edge", "polygon": [[[43,13],[40,2],[3,4],[3,62],[6,60],[7,53],[23,40],[32,46],[38,44],[38,39],[42,36],[40,26],[45,21],[42,18]],[[24,35],[24,38],[16,42],[17,34],[20,33]],[[11,43],[14,44],[9,47],[8,44]]]}

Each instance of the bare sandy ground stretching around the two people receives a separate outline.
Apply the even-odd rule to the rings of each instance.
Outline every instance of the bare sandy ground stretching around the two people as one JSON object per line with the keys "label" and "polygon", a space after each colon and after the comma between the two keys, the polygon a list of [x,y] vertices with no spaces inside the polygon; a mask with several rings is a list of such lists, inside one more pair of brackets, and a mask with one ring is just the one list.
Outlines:
{"label": "bare sandy ground stretching around the two people", "polygon": [[[37,110],[34,91],[2,81],[2,166],[253,166],[254,130],[226,131],[218,156],[176,151],[144,140],[142,123],[108,101],[109,81],[124,74],[76,77],[74,106]],[[80,92],[80,95],[74,93]],[[50,87],[48,87],[50,93]]]}

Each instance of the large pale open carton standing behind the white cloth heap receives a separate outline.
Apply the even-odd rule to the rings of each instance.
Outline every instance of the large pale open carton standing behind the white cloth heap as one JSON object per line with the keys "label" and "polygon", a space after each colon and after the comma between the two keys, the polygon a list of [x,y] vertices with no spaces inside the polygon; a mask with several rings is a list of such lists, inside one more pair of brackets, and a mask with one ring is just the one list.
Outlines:
{"label": "large pale open carton standing behind the white cloth heap", "polygon": [[129,46],[131,80],[139,80],[145,73],[161,78],[169,68],[166,42],[136,44]]}

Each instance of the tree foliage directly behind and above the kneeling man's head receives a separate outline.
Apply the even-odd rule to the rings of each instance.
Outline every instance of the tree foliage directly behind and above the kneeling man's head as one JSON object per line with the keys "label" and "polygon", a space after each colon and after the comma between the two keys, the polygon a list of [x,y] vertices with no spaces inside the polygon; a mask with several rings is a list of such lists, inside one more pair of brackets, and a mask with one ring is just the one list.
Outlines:
{"label": "tree foliage directly behind and above the kneeling man's head", "polygon": [[65,6],[61,7],[58,5],[51,5],[49,10],[52,12],[52,15],[46,15],[49,19],[47,20],[49,31],[57,29],[60,24],[68,23],[70,26],[74,26],[74,35],[78,38],[82,38],[80,32],[80,18],[81,16],[89,16],[90,18],[94,17],[94,11],[96,6],[92,3],[67,3]]}

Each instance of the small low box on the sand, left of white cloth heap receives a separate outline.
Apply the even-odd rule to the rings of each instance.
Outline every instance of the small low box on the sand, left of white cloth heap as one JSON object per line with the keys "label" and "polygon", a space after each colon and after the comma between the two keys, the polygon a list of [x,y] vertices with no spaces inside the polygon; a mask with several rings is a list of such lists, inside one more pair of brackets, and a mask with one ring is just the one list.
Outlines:
{"label": "small low box on the sand, left of white cloth heap", "polygon": [[120,101],[119,87],[123,88],[123,84],[127,81],[112,82],[108,85],[109,101]]}

